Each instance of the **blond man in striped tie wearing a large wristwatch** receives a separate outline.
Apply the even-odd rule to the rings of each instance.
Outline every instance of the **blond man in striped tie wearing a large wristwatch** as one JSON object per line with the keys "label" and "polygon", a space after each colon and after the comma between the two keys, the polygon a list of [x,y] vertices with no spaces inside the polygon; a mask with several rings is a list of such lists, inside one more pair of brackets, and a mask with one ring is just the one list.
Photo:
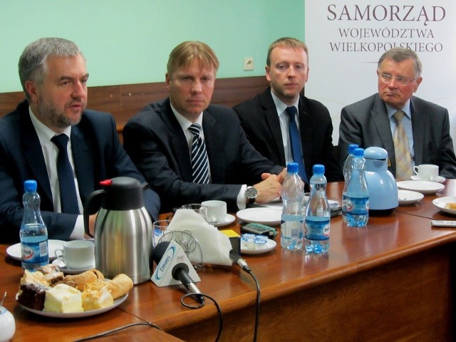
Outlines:
{"label": "blond man in striped tie wearing a large wristwatch", "polygon": [[169,98],[147,105],[123,129],[125,150],[160,195],[163,212],[207,199],[237,210],[280,195],[284,168],[261,157],[232,109],[209,104],[218,67],[206,44],[176,46],[165,76]]}

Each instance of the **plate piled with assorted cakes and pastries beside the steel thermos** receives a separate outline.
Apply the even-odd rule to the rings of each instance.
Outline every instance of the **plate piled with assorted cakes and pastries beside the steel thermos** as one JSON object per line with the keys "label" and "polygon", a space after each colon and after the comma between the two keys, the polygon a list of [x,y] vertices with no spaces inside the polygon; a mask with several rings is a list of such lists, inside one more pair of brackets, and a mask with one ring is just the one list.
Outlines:
{"label": "plate piled with assorted cakes and pastries beside the steel thermos", "polygon": [[16,301],[27,311],[53,318],[94,316],[122,304],[133,289],[125,274],[105,279],[97,269],[81,274],[63,274],[48,264],[24,271]]}

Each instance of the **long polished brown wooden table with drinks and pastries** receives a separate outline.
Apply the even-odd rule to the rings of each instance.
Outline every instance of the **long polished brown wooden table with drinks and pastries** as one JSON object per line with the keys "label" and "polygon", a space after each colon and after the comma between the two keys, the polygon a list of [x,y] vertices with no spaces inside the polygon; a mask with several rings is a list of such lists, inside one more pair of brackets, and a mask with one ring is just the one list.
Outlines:
{"label": "long polished brown wooden table with drinks and pastries", "polygon": [[[456,195],[456,180],[443,184],[418,203],[371,216],[364,228],[333,217],[328,254],[281,249],[276,237],[271,252],[244,255],[261,288],[257,341],[453,341],[456,229],[430,224],[455,219],[432,204],[436,197]],[[342,182],[328,184],[328,197],[340,200],[342,188]],[[239,232],[240,223],[219,229]],[[211,301],[187,309],[180,304],[187,293],[182,285],[159,288],[151,281],[134,286],[123,304],[98,316],[32,314],[14,299],[23,271],[19,261],[6,256],[6,247],[0,245],[0,292],[8,291],[4,306],[16,318],[13,341],[74,341],[137,322],[155,323],[166,333],[138,326],[123,338],[214,341],[217,336]],[[257,288],[252,276],[237,265],[206,265],[198,275],[198,288],[222,310],[220,341],[253,341]]]}

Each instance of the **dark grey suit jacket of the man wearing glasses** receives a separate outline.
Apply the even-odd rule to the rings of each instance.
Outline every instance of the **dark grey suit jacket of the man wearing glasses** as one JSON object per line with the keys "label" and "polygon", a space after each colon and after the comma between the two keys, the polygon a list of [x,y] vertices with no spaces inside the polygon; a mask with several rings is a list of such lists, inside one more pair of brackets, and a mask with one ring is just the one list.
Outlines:
{"label": "dark grey suit jacket of the man wearing glasses", "polygon": [[[456,157],[450,136],[448,110],[421,98],[410,98],[415,165],[435,164],[440,175],[456,178]],[[383,147],[388,151],[390,170],[395,175],[393,135],[385,103],[378,93],[347,105],[341,112],[339,162],[343,165],[349,144]]]}

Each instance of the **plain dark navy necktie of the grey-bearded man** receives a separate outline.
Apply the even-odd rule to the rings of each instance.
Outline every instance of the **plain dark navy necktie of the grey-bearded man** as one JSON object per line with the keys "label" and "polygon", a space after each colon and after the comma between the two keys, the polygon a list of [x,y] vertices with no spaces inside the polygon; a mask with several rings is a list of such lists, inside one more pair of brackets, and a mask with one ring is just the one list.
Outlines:
{"label": "plain dark navy necktie of the grey-bearded man", "polygon": [[74,185],[73,169],[71,168],[66,145],[68,136],[56,135],[51,141],[58,147],[57,173],[60,186],[61,211],[66,214],[80,214],[76,187]]}

